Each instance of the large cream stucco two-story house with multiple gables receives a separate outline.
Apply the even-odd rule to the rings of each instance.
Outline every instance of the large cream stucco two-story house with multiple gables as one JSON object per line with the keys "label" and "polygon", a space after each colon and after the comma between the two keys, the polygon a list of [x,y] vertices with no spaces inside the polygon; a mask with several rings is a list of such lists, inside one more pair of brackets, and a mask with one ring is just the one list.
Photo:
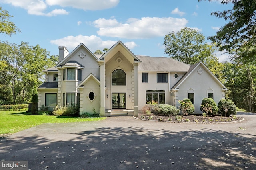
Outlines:
{"label": "large cream stucco two-story house with multiple gables", "polygon": [[202,63],[192,66],[166,57],[136,56],[121,41],[104,55],[94,55],[83,43],[71,53],[59,47],[59,63],[44,70],[37,88],[38,109],[79,104],[80,114],[138,115],[152,100],[178,107],[189,98],[202,114],[205,97],[216,103],[226,87]]}

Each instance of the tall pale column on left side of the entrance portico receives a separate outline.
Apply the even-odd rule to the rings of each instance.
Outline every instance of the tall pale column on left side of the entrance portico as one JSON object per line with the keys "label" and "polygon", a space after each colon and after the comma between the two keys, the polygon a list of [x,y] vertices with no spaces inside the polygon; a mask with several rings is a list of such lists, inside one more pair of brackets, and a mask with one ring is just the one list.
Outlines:
{"label": "tall pale column on left side of the entrance portico", "polygon": [[100,116],[105,116],[105,62],[100,62]]}

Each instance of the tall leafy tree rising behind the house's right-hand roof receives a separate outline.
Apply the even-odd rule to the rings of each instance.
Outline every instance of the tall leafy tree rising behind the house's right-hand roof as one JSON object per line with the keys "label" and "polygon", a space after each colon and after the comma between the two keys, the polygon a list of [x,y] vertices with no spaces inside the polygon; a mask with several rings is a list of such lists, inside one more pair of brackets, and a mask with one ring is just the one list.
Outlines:
{"label": "tall leafy tree rising behind the house's right-hand roof", "polygon": [[169,33],[164,37],[165,51],[173,59],[186,64],[195,64],[204,61],[212,56],[214,45],[208,45],[204,42],[205,37],[198,33],[196,29],[180,29],[177,33]]}

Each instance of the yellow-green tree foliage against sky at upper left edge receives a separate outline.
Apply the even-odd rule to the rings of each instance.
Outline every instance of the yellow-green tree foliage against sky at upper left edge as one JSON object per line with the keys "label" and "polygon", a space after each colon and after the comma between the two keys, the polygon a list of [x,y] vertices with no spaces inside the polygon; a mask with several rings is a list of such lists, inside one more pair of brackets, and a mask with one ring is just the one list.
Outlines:
{"label": "yellow-green tree foliage against sky at upper left edge", "polygon": [[10,14],[8,14],[8,11],[4,10],[0,6],[0,33],[5,33],[7,35],[16,34],[17,32],[20,33],[20,29],[17,28],[17,26],[9,21],[9,18],[11,18]]}

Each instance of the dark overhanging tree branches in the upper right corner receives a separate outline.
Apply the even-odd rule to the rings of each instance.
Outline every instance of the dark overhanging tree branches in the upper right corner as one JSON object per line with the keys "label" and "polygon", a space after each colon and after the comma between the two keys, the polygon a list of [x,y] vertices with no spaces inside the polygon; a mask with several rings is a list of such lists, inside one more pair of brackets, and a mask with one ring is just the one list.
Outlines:
{"label": "dark overhanging tree branches in the upper right corner", "polygon": [[[202,0],[199,0],[202,1]],[[212,0],[209,0],[212,1]],[[256,61],[256,1],[255,0],[221,0],[222,4],[232,3],[232,9],[223,12],[212,12],[218,18],[224,18],[228,23],[220,27],[216,35],[208,37],[216,42],[220,51],[236,54],[245,62]],[[242,49],[242,50],[241,50]]]}

